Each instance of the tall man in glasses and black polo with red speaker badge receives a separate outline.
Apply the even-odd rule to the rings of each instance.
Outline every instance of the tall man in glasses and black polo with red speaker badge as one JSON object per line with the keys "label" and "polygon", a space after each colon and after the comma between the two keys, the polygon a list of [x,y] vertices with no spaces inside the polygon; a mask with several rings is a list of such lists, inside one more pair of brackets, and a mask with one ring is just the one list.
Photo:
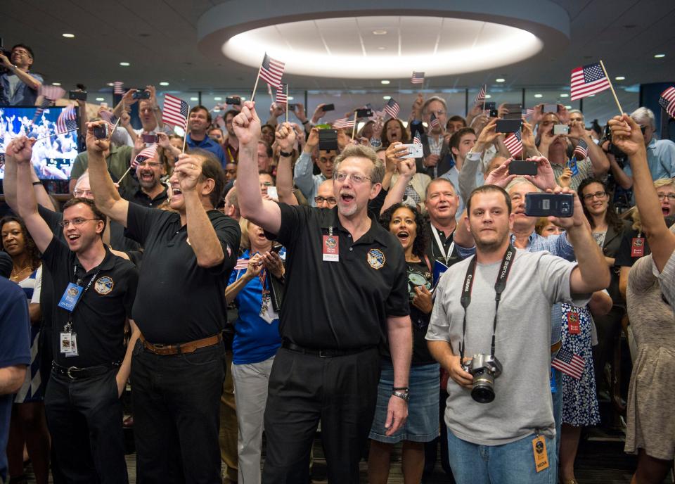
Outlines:
{"label": "tall man in glasses and black polo with red speaker badge", "polygon": [[[288,248],[279,325],[283,345],[269,379],[263,480],[309,480],[309,450],[321,421],[328,482],[358,483],[377,400],[378,344],[386,340],[394,363],[387,435],[408,414],[412,331],[404,254],[367,210],[381,189],[384,166],[371,149],[349,146],[335,160],[337,207],[262,200],[254,103],[245,102],[233,126],[240,144],[241,215]],[[278,135],[294,136],[293,127],[284,123]]]}

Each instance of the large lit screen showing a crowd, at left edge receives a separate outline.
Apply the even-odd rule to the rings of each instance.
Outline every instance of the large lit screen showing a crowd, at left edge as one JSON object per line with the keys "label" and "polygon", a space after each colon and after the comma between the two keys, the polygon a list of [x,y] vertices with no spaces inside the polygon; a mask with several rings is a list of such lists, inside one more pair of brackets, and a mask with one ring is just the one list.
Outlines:
{"label": "large lit screen showing a crowd, at left edge", "polygon": [[[0,179],[4,178],[6,146],[16,136],[39,139],[32,163],[39,179],[68,180],[77,156],[77,131],[55,134],[58,115],[67,106],[51,106],[34,120],[37,107],[0,106]],[[49,136],[53,134],[54,136]],[[41,138],[41,139],[40,139]]]}

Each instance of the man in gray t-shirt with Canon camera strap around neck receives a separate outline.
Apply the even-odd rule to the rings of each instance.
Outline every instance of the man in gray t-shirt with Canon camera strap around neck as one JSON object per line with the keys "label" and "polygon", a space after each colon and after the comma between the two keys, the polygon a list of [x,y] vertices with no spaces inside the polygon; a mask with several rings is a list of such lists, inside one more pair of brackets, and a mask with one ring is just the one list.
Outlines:
{"label": "man in gray t-shirt with Canon camera strap around neck", "polygon": [[[555,193],[570,191],[556,187]],[[573,197],[572,217],[551,219],[567,230],[577,264],[513,248],[510,198],[500,187],[481,186],[467,200],[463,222],[475,238],[476,255],[439,281],[426,336],[452,378],[445,421],[459,484],[549,483],[557,475],[548,373],[551,305],[583,305],[610,282]]]}

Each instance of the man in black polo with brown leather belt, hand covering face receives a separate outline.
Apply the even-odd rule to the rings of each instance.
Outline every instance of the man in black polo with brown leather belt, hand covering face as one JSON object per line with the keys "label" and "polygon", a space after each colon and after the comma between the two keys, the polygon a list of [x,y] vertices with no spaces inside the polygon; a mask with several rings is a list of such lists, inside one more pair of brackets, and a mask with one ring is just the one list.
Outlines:
{"label": "man in black polo with brown leather belt, hand covering face", "polygon": [[221,331],[240,238],[239,225],[214,210],[222,168],[209,152],[191,151],[169,179],[175,212],[129,203],[105,167],[108,142],[94,138],[98,124],[86,134],[94,200],[144,248],[133,310],[143,335],[131,374],[136,475],[139,482],[220,483]]}

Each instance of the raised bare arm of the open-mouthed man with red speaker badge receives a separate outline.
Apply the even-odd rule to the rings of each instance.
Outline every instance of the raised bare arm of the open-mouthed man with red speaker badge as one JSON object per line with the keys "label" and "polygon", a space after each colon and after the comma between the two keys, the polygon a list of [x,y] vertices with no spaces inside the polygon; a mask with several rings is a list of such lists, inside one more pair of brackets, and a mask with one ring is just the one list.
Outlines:
{"label": "raised bare arm of the open-mouthed man with red speaker badge", "polygon": [[232,120],[232,127],[239,139],[237,195],[241,216],[271,234],[277,234],[281,227],[281,209],[273,201],[263,200],[260,193],[257,161],[260,119],[255,112],[255,103],[244,102],[241,112]]}

